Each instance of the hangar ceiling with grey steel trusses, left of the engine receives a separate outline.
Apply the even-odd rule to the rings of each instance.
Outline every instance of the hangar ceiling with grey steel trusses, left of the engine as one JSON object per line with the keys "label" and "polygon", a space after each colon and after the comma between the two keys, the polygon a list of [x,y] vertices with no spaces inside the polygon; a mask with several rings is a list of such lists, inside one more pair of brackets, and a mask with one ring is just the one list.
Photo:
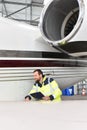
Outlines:
{"label": "hangar ceiling with grey steel trusses, left of the engine", "polygon": [[44,0],[0,0],[0,16],[37,26]]}

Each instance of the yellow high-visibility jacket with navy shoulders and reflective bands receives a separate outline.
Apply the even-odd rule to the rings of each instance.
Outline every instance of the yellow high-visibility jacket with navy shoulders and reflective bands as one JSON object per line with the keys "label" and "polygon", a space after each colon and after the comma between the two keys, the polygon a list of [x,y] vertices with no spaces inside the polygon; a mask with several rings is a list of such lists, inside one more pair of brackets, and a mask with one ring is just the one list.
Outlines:
{"label": "yellow high-visibility jacket with navy shoulders and reflective bands", "polygon": [[45,96],[50,96],[51,100],[61,101],[62,92],[57,82],[53,78],[47,78],[46,76],[44,76],[42,84],[39,82],[35,82],[32,90],[29,92],[28,95],[35,92],[41,92]]}

